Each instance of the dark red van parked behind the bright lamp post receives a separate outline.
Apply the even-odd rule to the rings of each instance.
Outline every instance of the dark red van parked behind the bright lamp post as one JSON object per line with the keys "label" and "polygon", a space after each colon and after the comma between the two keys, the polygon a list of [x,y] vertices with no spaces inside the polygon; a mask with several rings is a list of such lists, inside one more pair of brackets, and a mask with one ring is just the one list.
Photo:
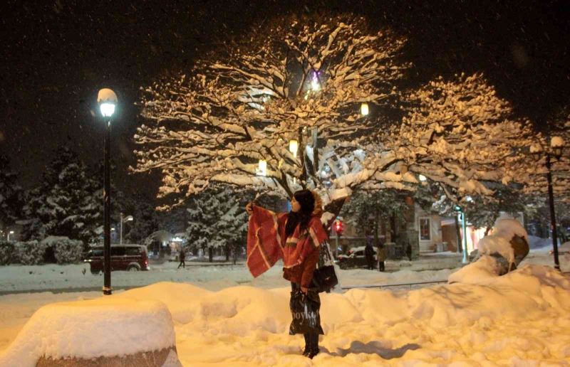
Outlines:
{"label": "dark red van parked behind the bright lamp post", "polygon": [[[103,271],[103,246],[91,248],[87,252],[85,262],[91,267],[92,274]],[[137,272],[149,270],[147,248],[142,245],[112,245],[111,271],[128,270]]]}

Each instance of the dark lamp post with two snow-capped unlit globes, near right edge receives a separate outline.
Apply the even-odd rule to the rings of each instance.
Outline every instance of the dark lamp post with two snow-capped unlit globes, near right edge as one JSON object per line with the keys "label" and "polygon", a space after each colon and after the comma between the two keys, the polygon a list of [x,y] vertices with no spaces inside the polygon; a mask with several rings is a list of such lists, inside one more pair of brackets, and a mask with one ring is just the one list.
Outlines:
{"label": "dark lamp post with two snow-capped unlit globes, near right edge", "polygon": [[552,250],[554,252],[554,268],[560,270],[560,262],[558,259],[558,234],[556,233],[556,213],[554,213],[554,190],[552,189],[552,172],[551,172],[551,157],[554,156],[558,161],[562,156],[562,149],[564,149],[564,139],[561,137],[552,137],[550,139],[550,150],[543,151],[539,145],[530,147],[530,152],[534,158],[539,160],[541,154],[546,156],[546,181],[548,181],[548,201],[550,207],[550,230],[552,233]]}

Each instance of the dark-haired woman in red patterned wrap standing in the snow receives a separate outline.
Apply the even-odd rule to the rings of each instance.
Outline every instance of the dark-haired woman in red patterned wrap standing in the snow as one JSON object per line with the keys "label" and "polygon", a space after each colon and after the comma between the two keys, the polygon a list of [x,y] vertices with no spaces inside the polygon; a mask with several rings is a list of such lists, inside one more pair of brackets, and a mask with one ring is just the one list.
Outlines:
{"label": "dark-haired woman in red patterned wrap standing in the snow", "polygon": [[[291,302],[302,292],[316,305],[318,321],[311,332],[304,334],[303,354],[313,358],[319,351],[318,335],[323,334],[318,315],[321,300],[316,289],[311,289],[319,246],[327,238],[321,224],[321,198],[313,191],[301,190],[294,193],[289,213],[276,214],[252,203],[246,206],[246,210],[250,215],[247,265],[252,275],[261,274],[282,258],[283,277],[291,282]],[[296,334],[292,326],[289,333]]]}

